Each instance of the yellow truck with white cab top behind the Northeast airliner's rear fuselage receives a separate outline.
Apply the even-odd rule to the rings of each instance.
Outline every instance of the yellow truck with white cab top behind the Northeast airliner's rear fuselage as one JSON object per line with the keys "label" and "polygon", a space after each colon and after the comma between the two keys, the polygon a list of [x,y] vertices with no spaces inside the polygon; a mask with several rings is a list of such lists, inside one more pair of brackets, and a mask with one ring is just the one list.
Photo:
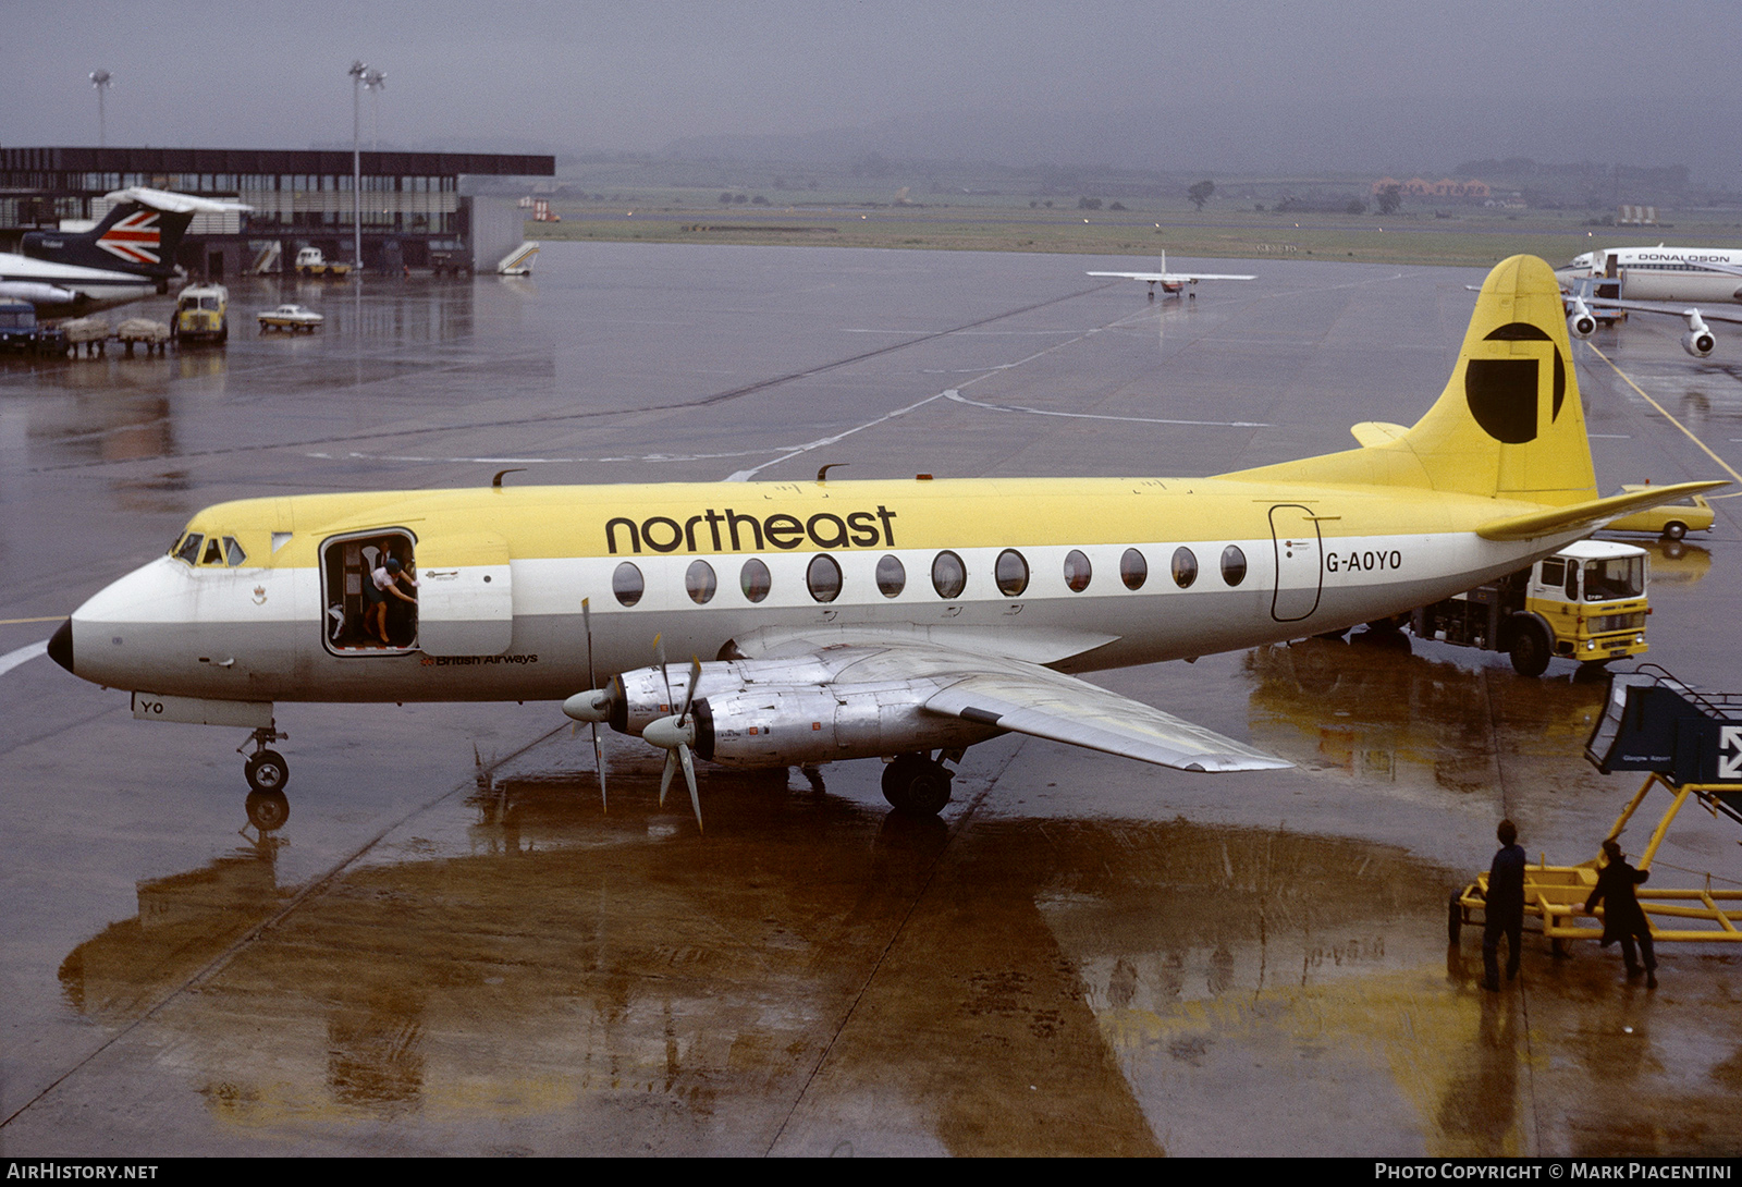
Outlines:
{"label": "yellow truck with white cab top behind the Northeast airliner's rear fuselage", "polygon": [[1523,676],[1554,657],[1606,664],[1646,650],[1646,554],[1632,544],[1578,540],[1529,568],[1409,614],[1418,638],[1509,652]]}

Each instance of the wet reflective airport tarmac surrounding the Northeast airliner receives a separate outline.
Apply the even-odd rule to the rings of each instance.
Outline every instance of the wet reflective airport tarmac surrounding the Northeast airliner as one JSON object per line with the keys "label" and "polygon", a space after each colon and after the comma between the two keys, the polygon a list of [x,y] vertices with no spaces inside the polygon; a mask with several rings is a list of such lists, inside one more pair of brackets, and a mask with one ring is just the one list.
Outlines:
{"label": "wet reflective airport tarmac surrounding the Northeast airliner", "polygon": [[[1742,952],[1664,945],[1648,992],[1528,938],[1489,995],[1479,936],[1446,943],[1500,816],[1580,861],[1637,786],[1580,758],[1603,683],[1564,662],[1357,633],[1101,673],[1298,767],[1005,737],[927,824],[874,762],[712,769],[706,837],[632,739],[601,812],[552,704],[280,706],[293,811],[261,837],[242,730],[24,657],[240,495],[1345,448],[1437,396],[1479,279],[1252,261],[1150,303],[1082,275],[1127,265],[552,244],[531,281],[239,282],[226,350],[0,361],[0,1154],[1737,1152]],[[282,300],[326,329],[256,336]],[[1742,347],[1672,328],[1596,347],[1735,465]],[[1575,357],[1604,490],[1725,476]],[[1737,690],[1716,505],[1639,540],[1650,659]],[[1733,885],[1737,840],[1688,811],[1653,880]]]}

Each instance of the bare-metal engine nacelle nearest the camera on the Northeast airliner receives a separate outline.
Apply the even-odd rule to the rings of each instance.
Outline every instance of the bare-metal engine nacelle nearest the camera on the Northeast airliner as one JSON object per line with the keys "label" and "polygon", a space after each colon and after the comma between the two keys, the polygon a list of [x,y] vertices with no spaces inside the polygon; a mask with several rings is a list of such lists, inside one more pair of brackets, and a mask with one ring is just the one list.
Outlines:
{"label": "bare-metal engine nacelle nearest the camera on the Northeast airliner", "polygon": [[695,753],[728,767],[796,767],[838,758],[874,758],[953,750],[1003,730],[927,713],[937,690],[911,685],[756,685],[699,697]]}

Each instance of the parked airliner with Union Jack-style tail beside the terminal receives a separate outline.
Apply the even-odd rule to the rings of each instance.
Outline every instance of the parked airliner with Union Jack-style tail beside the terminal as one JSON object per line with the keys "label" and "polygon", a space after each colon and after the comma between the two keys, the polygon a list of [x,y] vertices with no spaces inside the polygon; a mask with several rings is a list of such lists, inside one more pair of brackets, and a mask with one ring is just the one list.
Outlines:
{"label": "parked airliner with Union Jack-style tail beside the terminal", "polygon": [[30,302],[44,317],[89,314],[153,293],[179,275],[176,248],[195,214],[242,213],[240,202],[131,187],[91,230],[31,230],[23,254],[0,251],[0,298]]}

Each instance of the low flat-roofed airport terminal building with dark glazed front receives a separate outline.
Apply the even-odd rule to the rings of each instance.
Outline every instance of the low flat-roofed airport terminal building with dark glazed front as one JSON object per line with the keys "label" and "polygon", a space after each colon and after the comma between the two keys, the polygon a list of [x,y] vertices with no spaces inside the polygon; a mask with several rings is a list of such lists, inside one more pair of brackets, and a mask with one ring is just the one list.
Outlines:
{"label": "low flat-roofed airport terminal building with dark glazed front", "polygon": [[213,281],[289,270],[301,248],[350,260],[362,209],[362,263],[399,272],[495,267],[521,242],[507,199],[465,193],[462,178],[549,178],[556,157],[517,153],[362,153],[361,204],[352,153],[280,148],[0,148],[0,244],[26,230],[105,214],[125,187],[237,199],[247,214],[200,214],[176,261]]}

